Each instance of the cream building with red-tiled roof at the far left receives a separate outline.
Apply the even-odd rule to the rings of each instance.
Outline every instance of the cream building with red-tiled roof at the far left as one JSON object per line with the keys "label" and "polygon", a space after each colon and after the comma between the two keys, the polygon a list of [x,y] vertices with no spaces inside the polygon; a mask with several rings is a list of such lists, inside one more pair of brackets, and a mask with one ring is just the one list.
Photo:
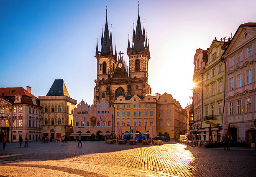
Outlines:
{"label": "cream building with red-tiled roof at the far left", "polygon": [[41,106],[31,94],[31,87],[0,88],[0,139],[8,141],[37,140],[41,134]]}

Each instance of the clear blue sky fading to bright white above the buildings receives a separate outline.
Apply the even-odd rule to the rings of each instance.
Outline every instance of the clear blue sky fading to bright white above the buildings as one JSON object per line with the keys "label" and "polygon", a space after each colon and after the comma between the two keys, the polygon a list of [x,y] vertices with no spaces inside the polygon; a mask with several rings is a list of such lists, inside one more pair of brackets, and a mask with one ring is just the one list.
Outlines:
{"label": "clear blue sky fading to bright white above the buildings", "polygon": [[[138,17],[136,0],[1,0],[0,87],[31,86],[38,97],[55,79],[64,79],[73,99],[92,104],[96,37],[104,27],[106,5],[113,43],[125,53]],[[214,37],[220,40],[240,24],[256,22],[255,7],[255,0],[141,0],[152,93],[170,93],[182,107],[192,102],[196,49],[206,50]]]}

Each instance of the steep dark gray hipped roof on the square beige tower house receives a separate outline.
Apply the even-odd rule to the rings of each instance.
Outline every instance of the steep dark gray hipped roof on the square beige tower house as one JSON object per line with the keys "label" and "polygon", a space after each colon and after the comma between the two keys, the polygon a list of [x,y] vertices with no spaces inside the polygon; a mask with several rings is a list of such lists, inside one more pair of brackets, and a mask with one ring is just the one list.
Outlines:
{"label": "steep dark gray hipped roof on the square beige tower house", "polygon": [[69,92],[67,91],[66,85],[63,79],[56,79],[54,83],[51,85],[51,88],[46,96],[69,96]]}

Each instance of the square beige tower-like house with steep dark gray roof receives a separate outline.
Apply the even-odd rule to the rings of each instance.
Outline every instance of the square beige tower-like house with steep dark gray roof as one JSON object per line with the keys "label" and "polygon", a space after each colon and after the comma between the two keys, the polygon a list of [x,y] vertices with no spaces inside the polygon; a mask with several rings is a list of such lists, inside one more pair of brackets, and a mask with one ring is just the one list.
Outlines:
{"label": "square beige tower-like house with steep dark gray roof", "polygon": [[77,101],[69,96],[62,79],[56,79],[46,96],[39,96],[41,110],[41,137],[60,139],[73,132],[73,110]]}

